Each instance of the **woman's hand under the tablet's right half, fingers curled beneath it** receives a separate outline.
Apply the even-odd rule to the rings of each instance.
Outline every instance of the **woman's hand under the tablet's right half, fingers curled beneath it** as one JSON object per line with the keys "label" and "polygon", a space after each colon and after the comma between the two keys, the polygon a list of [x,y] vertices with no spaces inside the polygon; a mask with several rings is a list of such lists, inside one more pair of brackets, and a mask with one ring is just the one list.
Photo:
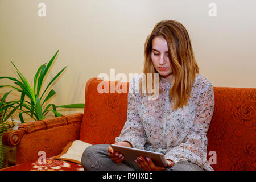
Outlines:
{"label": "woman's hand under the tablet's right half, fingers curled beneath it", "polygon": [[[140,168],[142,168],[144,171],[163,171],[166,168],[165,167],[160,167],[156,166],[154,162],[148,157],[143,158],[142,156],[138,156],[137,159],[134,160]],[[170,159],[166,159],[166,163],[168,167],[174,166],[174,162]]]}

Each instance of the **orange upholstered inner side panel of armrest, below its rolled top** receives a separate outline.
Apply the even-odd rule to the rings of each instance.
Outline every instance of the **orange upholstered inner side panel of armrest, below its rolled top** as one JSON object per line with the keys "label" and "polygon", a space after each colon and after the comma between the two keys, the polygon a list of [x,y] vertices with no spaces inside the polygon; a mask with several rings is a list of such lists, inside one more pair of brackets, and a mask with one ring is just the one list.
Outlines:
{"label": "orange upholstered inner side panel of armrest, below its rolled top", "polygon": [[59,155],[63,148],[79,137],[80,123],[39,130],[31,134],[24,134],[17,146],[16,163],[24,163],[39,158],[38,152],[46,152],[46,157]]}

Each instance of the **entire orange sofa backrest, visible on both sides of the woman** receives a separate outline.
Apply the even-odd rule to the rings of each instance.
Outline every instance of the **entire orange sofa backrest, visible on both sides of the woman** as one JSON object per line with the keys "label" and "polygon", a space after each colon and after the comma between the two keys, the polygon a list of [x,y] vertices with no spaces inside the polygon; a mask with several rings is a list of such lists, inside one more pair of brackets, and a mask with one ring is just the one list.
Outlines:
{"label": "entire orange sofa backrest, visible on both sides of the woman", "polygon": [[[114,143],[127,118],[126,93],[97,92],[102,80],[91,78],[86,83],[85,110],[80,140],[92,144]],[[255,170],[255,98],[256,89],[214,87],[215,107],[207,133],[207,159],[214,170]]]}

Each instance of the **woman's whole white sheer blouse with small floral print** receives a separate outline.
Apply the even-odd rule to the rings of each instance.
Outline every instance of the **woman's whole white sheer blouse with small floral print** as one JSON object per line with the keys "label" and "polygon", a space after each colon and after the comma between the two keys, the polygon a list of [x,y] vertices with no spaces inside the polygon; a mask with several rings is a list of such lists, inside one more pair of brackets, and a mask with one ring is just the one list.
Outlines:
{"label": "woman's whole white sheer blouse with small floral print", "polygon": [[[175,164],[188,160],[205,170],[213,170],[207,161],[207,131],[214,110],[212,83],[196,74],[191,99],[176,111],[169,100],[171,82],[160,78],[156,100],[142,96],[138,82],[142,74],[129,84],[127,121],[115,142],[129,141],[134,148],[162,152]],[[136,90],[135,90],[136,89]]]}

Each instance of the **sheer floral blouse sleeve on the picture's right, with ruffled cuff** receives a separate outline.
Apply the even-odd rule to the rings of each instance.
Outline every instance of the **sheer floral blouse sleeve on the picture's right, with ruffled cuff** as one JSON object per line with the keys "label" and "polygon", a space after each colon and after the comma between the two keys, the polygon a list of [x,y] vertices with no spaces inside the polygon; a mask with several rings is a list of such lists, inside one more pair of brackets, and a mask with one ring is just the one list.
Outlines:
{"label": "sheer floral blouse sleeve on the picture's right, with ruffled cuff", "polygon": [[195,120],[187,137],[168,151],[166,159],[171,159],[175,164],[180,160],[189,160],[192,163],[203,166],[207,161],[207,131],[212,120],[214,110],[214,93],[212,84],[208,84],[199,96],[196,107]]}

